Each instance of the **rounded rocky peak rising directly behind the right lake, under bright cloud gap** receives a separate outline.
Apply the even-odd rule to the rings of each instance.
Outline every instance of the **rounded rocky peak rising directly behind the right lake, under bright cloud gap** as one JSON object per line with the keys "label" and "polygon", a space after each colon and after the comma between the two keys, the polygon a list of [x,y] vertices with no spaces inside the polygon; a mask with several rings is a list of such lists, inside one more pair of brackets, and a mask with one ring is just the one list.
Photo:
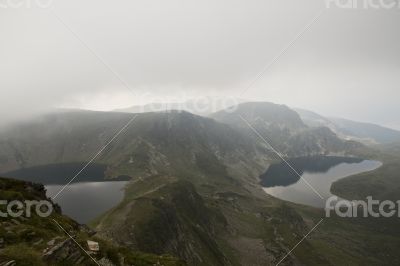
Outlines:
{"label": "rounded rocky peak rising directly behind the right lake, under bright cloud gap", "polygon": [[258,136],[260,134],[266,140],[266,147],[271,145],[289,157],[356,155],[364,150],[360,143],[342,140],[328,127],[307,126],[295,111],[285,105],[243,103],[210,117],[230,125],[244,135],[253,136],[257,141],[262,141]]}

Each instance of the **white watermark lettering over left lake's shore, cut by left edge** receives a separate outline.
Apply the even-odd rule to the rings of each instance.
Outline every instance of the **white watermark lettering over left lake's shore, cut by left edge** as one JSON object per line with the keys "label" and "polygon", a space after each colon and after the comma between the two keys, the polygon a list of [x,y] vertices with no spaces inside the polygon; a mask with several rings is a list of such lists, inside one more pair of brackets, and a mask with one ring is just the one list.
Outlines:
{"label": "white watermark lettering over left lake's shore, cut by left edge", "polygon": [[1,218],[30,218],[32,213],[36,213],[39,217],[46,218],[53,213],[53,204],[47,200],[0,200],[0,217]]}

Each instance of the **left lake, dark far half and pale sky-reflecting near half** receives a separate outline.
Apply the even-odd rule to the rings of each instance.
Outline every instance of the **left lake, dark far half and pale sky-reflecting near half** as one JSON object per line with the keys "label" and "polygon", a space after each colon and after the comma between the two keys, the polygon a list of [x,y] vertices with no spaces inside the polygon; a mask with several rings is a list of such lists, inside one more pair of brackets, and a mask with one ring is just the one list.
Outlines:
{"label": "left lake, dark far half and pale sky-reflecting near half", "polygon": [[[42,183],[47,196],[56,195],[83,167],[85,163],[52,164],[24,168],[1,174],[25,181]],[[130,179],[120,176],[107,180],[105,165],[91,164],[63,190],[54,202],[64,214],[79,223],[88,223],[116,206],[124,197],[124,187]]]}

